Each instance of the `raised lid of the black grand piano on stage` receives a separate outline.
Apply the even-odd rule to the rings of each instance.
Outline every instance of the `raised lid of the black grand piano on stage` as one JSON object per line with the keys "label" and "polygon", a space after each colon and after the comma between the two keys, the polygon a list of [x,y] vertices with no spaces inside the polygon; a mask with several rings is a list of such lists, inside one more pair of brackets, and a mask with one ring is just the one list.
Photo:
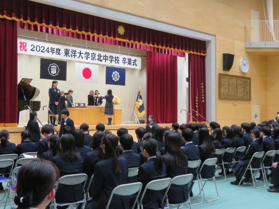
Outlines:
{"label": "raised lid of the black grand piano on stage", "polygon": [[17,84],[17,99],[33,100],[39,94],[40,90],[30,85],[31,78],[22,78]]}

